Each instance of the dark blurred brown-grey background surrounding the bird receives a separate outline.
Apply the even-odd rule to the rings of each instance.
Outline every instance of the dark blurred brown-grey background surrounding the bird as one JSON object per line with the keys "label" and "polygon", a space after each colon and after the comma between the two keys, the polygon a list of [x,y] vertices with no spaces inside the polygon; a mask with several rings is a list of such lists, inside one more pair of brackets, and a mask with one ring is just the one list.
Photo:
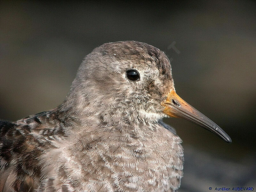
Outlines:
{"label": "dark blurred brown-grey background surrounding the bird", "polygon": [[16,121],[59,105],[95,47],[145,42],[170,58],[177,93],[233,140],[165,119],[183,140],[179,191],[256,189],[255,10],[254,1],[1,1],[0,118]]}

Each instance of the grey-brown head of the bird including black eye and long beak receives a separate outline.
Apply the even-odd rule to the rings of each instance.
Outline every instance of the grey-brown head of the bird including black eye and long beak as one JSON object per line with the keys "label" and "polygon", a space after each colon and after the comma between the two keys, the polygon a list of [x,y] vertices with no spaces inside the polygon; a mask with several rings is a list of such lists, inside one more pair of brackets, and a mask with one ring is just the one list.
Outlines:
{"label": "grey-brown head of the bird including black eye and long beak", "polygon": [[120,41],[95,48],[78,69],[70,92],[79,98],[81,110],[96,108],[112,123],[181,117],[231,142],[217,124],[177,95],[170,61],[152,45]]}

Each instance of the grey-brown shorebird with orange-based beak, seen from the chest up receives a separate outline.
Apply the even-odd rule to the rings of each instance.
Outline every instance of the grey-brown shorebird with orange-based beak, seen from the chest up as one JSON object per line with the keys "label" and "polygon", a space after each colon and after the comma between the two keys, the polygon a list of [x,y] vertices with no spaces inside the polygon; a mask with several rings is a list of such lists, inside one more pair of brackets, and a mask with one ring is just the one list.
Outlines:
{"label": "grey-brown shorebird with orange-based beak, seen from the chest up", "polygon": [[184,153],[168,116],[231,143],[178,96],[164,52],[137,41],[100,45],[58,107],[0,121],[0,192],[174,192]]}

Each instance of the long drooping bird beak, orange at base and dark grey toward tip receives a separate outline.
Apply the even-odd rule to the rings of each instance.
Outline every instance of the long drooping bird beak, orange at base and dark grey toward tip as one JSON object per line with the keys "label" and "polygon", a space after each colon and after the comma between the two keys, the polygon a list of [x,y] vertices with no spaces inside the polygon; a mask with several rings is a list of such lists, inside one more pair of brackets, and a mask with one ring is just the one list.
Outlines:
{"label": "long drooping bird beak, orange at base and dark grey toward tip", "polygon": [[204,114],[197,111],[186,101],[180,98],[175,91],[171,91],[167,99],[161,103],[164,106],[163,112],[171,117],[181,117],[191,121],[208,131],[216,134],[227,143],[231,143],[232,140],[217,124],[206,117]]}

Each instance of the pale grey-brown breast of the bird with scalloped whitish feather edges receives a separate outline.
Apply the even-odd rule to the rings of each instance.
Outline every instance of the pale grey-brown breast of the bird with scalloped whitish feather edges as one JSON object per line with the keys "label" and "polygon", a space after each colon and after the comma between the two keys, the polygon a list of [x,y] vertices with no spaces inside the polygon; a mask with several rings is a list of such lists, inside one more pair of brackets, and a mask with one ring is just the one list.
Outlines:
{"label": "pale grey-brown breast of the bird with scalloped whitish feather edges", "polygon": [[148,129],[86,132],[43,156],[52,161],[44,173],[84,191],[173,191],[183,174],[181,140],[159,124]]}

